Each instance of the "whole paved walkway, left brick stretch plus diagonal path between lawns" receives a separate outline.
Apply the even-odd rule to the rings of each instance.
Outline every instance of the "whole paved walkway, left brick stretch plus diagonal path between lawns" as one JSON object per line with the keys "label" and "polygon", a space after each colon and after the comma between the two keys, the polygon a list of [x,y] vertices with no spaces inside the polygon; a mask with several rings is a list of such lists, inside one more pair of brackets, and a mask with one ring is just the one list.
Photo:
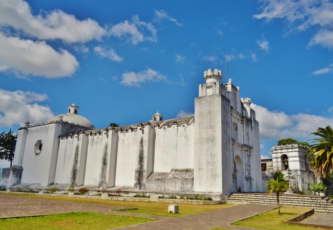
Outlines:
{"label": "whole paved walkway, left brick stretch plus diagonal path between lawns", "polygon": [[[140,213],[127,213],[115,210],[128,209],[121,206],[76,203],[30,197],[0,194],[0,218],[51,215],[71,212],[98,212],[124,216],[139,216],[155,219],[149,223],[121,227],[119,229],[253,229],[230,225],[233,222],[254,216],[275,208],[275,205],[244,204],[231,208],[191,214],[181,217],[163,217]],[[180,207],[181,211],[181,207]]]}

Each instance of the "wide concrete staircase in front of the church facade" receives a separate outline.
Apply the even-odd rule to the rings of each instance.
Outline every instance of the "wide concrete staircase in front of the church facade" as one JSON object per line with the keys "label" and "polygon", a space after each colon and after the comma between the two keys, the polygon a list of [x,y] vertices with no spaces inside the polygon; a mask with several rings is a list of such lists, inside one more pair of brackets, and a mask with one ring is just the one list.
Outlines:
{"label": "wide concrete staircase in front of the church facade", "polygon": [[[233,193],[227,203],[277,204],[276,194],[267,193]],[[283,194],[280,205],[300,208],[313,208],[317,213],[333,213],[333,199],[316,195]]]}

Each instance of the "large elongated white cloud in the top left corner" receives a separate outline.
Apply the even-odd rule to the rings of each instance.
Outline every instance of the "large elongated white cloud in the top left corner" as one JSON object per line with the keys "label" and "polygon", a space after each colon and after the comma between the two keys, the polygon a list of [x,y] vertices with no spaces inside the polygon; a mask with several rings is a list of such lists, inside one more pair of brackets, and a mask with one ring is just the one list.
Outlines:
{"label": "large elongated white cloud in the top left corner", "polygon": [[95,20],[78,20],[61,10],[33,15],[22,0],[0,0],[0,25],[10,26],[38,39],[87,42],[106,34]]}

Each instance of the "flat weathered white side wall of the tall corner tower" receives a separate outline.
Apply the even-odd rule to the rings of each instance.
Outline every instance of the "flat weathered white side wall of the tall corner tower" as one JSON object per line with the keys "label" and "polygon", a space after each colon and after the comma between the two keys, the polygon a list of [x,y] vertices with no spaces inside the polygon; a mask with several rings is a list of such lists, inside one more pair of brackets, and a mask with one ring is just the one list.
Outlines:
{"label": "flat weathered white side wall of the tall corner tower", "polygon": [[195,99],[194,190],[197,192],[222,192],[222,97],[216,94]]}

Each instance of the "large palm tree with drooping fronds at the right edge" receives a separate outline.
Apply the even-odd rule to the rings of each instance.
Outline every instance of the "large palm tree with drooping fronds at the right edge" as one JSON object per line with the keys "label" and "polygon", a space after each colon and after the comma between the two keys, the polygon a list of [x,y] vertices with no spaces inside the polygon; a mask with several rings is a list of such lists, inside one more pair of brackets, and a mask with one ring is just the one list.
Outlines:
{"label": "large palm tree with drooping fronds at the right edge", "polygon": [[307,155],[319,176],[326,177],[333,171],[333,129],[328,125],[326,128],[318,128],[312,134],[318,137],[311,140],[314,144],[310,145]]}

